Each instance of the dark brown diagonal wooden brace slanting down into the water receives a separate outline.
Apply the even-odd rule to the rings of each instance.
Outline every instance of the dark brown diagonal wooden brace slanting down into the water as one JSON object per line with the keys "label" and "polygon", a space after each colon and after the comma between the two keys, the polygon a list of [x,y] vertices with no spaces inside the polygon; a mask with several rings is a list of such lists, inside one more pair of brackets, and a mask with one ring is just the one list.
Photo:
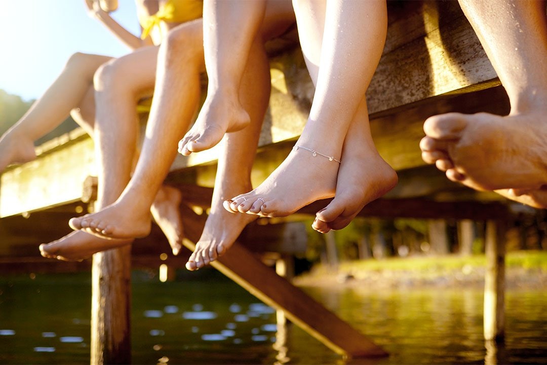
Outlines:
{"label": "dark brown diagonal wooden brace slanting down into the water", "polygon": [[[205,225],[206,216],[197,216],[188,206],[181,205],[187,239],[184,246],[194,250]],[[193,242],[192,242],[193,241]],[[327,345],[338,354],[353,357],[386,356],[362,333],[342,321],[301,289],[295,287],[238,242],[212,266],[258,299],[278,310],[283,310],[288,320]]]}

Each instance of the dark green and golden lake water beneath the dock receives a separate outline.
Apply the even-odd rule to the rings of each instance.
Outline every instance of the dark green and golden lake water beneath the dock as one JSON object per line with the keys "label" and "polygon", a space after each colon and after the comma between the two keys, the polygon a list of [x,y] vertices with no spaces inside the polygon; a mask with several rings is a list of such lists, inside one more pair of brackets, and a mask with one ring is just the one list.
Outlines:
{"label": "dark green and golden lake water beneath the dock", "polygon": [[[181,275],[179,275],[181,276]],[[133,273],[135,364],[547,363],[547,294],[509,291],[504,346],[482,339],[482,291],[306,289],[391,355],[344,360],[214,270]],[[90,274],[0,277],[0,363],[86,364]],[[488,350],[487,350],[488,348]]]}

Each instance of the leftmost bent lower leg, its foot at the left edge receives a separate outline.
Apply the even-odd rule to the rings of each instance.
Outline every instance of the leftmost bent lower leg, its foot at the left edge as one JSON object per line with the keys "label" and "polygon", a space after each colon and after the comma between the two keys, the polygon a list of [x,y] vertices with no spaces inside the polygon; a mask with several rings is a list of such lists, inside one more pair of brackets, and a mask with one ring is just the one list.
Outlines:
{"label": "leftmost bent lower leg, its foot at the left edge", "polygon": [[92,86],[93,74],[109,59],[83,53],[70,57],[44,95],[0,138],[0,172],[10,164],[25,163],[36,157],[34,141],[61,124],[71,109],[80,106]]}

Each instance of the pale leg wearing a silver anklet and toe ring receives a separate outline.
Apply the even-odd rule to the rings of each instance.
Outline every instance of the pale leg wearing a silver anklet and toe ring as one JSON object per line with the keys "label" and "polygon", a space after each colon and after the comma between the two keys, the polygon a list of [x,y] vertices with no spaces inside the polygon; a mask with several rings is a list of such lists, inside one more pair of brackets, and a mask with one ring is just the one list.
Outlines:
{"label": "pale leg wearing a silver anklet and toe ring", "polygon": [[[286,216],[314,200],[334,195],[339,170],[334,159],[340,160],[345,137],[380,59],[387,28],[385,2],[328,2],[327,8],[320,2],[295,2],[294,5],[302,51],[316,83],[310,117],[296,146],[317,150],[333,160],[319,154],[314,157],[305,149],[293,149],[264,183],[230,203],[227,208],[234,212]],[[328,15],[325,17],[325,14]],[[368,19],[374,22],[363,22],[363,14],[369,14]],[[351,31],[340,32],[340,24]],[[360,156],[370,161],[369,169],[382,165],[375,163],[379,155],[374,144],[371,146],[371,150]],[[386,164],[382,171],[369,169],[369,175],[389,175],[383,170],[393,174]],[[294,186],[295,178],[299,179],[298,187]],[[386,187],[362,188],[366,190],[383,191],[393,186],[391,180],[368,178],[365,182]]]}

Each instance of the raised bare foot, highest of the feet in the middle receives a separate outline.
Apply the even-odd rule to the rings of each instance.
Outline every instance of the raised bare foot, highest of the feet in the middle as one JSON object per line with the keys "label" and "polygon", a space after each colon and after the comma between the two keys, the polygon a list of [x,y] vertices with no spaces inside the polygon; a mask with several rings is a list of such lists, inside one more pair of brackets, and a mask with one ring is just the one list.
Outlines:
{"label": "raised bare foot, highest of the feet in the middle", "polygon": [[217,95],[212,101],[205,101],[196,122],[178,142],[178,152],[188,156],[215,146],[226,132],[245,128],[251,119],[239,100]]}

